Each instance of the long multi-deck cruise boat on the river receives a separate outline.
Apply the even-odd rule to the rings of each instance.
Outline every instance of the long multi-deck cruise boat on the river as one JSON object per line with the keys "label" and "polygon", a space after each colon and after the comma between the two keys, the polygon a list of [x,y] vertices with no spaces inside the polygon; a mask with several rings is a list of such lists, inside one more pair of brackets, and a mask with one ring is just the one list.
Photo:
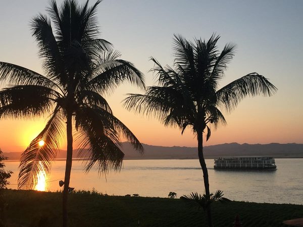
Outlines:
{"label": "long multi-deck cruise boat on the river", "polygon": [[215,159],[215,169],[276,169],[272,157],[222,157]]}

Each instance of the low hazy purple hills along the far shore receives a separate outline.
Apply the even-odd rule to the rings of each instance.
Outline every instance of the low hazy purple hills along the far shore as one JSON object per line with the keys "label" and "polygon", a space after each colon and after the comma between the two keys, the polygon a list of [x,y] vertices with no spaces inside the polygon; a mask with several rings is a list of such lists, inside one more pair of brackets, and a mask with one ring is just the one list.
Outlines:
{"label": "low hazy purple hills along the far shore", "polygon": [[[144,154],[136,152],[132,146],[124,142],[124,159],[197,159],[196,147],[164,147],[143,144]],[[9,160],[19,160],[22,152],[4,152]],[[73,157],[76,158],[77,151]],[[303,144],[270,143],[270,144],[238,144],[225,143],[204,147],[205,158],[233,157],[233,156],[270,156],[275,158],[303,158]],[[60,150],[57,158],[65,158],[66,151]]]}

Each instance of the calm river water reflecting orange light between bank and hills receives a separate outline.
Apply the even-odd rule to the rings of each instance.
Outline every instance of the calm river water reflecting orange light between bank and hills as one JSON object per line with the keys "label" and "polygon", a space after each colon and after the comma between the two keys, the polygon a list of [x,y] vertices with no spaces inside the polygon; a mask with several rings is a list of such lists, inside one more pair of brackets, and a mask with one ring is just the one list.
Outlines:
{"label": "calm river water reflecting orange light between bank and hills", "polygon": [[[215,171],[213,159],[206,160],[211,192],[220,189],[238,201],[303,204],[303,159],[276,159],[276,171]],[[14,172],[9,188],[16,189],[19,162],[6,162]],[[56,161],[46,179],[46,191],[56,191],[64,180],[65,161]],[[125,160],[120,173],[98,176],[96,169],[83,172],[82,161],[73,161],[70,186],[109,195],[139,194],[167,197],[190,192],[204,193],[203,173],[198,160]],[[42,178],[43,180],[43,178]],[[53,182],[50,182],[53,181]]]}

